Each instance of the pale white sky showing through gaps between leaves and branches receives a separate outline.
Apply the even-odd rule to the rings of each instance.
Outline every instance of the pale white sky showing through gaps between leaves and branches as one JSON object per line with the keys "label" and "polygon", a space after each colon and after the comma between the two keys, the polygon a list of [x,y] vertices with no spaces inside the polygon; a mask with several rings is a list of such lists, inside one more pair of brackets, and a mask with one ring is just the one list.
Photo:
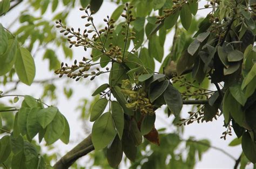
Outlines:
{"label": "pale white sky showing through gaps between leaves and branches", "polygon": [[[24,3],[23,3],[24,4]],[[199,3],[199,8],[202,8],[205,2]],[[26,5],[25,5],[26,6]],[[19,9],[12,10],[8,13],[8,15],[0,18],[0,23],[2,23],[5,27],[8,27],[14,19],[16,19],[17,15],[19,15],[20,9],[24,9],[25,6],[19,6]],[[96,13],[94,20],[95,23],[102,24],[103,18],[106,17],[106,15],[111,16],[114,9],[116,9],[116,4],[111,3],[109,1],[106,1],[103,3],[102,7],[100,8],[99,12]],[[64,6],[59,6],[58,11],[62,10]],[[50,8],[49,8],[50,9]],[[51,16],[51,10],[46,12],[46,17]],[[79,26],[82,28],[84,25],[84,20],[80,18],[82,15],[82,12],[78,10],[79,8],[72,9],[70,11],[70,15],[68,17],[68,25],[72,25],[73,28],[78,28]],[[37,12],[38,13],[38,12]],[[198,11],[198,16],[206,16],[207,13],[205,10]],[[16,24],[17,25],[17,24]],[[15,25],[12,26],[11,30],[15,30]],[[165,55],[167,55],[168,50],[170,48],[169,44],[172,44],[172,33],[170,33],[169,36],[166,37],[165,41]],[[66,43],[68,46],[68,42]],[[61,49],[53,49],[56,51],[57,55],[60,60],[64,60],[64,56]],[[38,55],[36,56],[35,62],[36,62],[36,80],[38,79],[47,79],[51,77],[56,77],[52,72],[48,71],[48,61],[42,61],[42,55],[43,52],[39,51]],[[79,48],[73,48],[73,59],[81,60],[83,56],[89,56],[90,52],[85,53],[83,49]],[[72,63],[72,60],[67,60],[66,62]],[[159,67],[159,63],[157,64],[157,67]],[[158,69],[156,69],[158,70]],[[98,78],[98,84],[103,84],[104,82],[107,82],[107,77],[103,78],[102,76]],[[78,120],[78,116],[80,112],[75,111],[76,106],[78,105],[79,99],[81,98],[91,98],[91,93],[94,89],[96,89],[95,84],[89,84],[86,83],[84,80],[84,83],[75,83],[72,82],[70,84],[66,84],[65,80],[58,80],[57,83],[58,86],[70,86],[73,91],[73,97],[71,99],[66,99],[66,97],[63,95],[63,87],[58,87],[58,91],[56,92],[58,94],[58,102],[57,106],[64,114],[64,116],[68,119],[70,127],[71,127],[71,144],[65,145],[61,141],[57,141],[55,143],[56,146],[61,147],[59,153],[64,154],[66,151],[70,150],[74,145],[79,143],[80,140],[82,140],[84,137],[87,136],[88,132],[90,132],[90,126],[92,123],[89,121],[86,121],[86,123],[82,123],[81,120]],[[11,88],[12,86],[7,86]],[[31,94],[32,96],[39,97],[42,93],[43,89],[39,88],[40,86],[33,84],[32,86],[26,86],[26,85],[19,85],[18,90],[15,92],[16,94]],[[0,85],[0,90],[6,89],[6,86],[3,87]],[[214,89],[215,90],[215,89]],[[75,96],[75,97],[74,97]],[[52,103],[50,100],[44,100],[46,103]],[[53,103],[52,103],[53,104]],[[184,106],[183,111],[181,112],[183,114],[183,117],[187,116],[188,109]],[[160,116],[159,116],[160,114]],[[203,124],[191,124],[185,127],[184,132],[184,139],[187,139],[189,137],[194,137],[195,139],[208,139],[211,141],[211,144],[213,146],[217,146],[220,148],[223,148],[225,151],[232,154],[235,158],[238,158],[241,153],[241,147],[228,147],[228,144],[230,143],[233,138],[235,138],[235,133],[233,132],[233,136],[227,137],[227,140],[224,141],[223,139],[220,139],[221,133],[224,132],[226,129],[223,127],[223,117],[220,117],[217,121],[214,120],[213,122],[203,123]],[[161,127],[166,127],[166,124],[171,124],[172,118],[166,118],[163,113],[158,112],[157,113],[157,122],[156,122],[156,128],[160,129]],[[86,124],[86,125],[85,125]],[[230,157],[227,157],[225,154],[210,149],[207,153],[204,154],[202,160],[197,163],[196,168],[233,168],[234,166],[234,160]]]}

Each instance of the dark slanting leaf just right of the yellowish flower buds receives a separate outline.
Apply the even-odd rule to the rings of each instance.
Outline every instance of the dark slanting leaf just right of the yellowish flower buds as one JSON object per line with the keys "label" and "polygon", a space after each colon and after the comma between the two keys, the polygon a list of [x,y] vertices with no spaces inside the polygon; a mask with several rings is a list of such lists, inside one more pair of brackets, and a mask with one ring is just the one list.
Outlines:
{"label": "dark slanting leaf just right of the yellowish flower buds", "polygon": [[151,86],[150,92],[149,92],[150,102],[153,103],[154,100],[156,100],[158,97],[160,97],[161,94],[163,94],[164,91],[167,89],[169,84],[170,84],[169,80],[164,80],[162,82],[159,82],[159,83]]}

